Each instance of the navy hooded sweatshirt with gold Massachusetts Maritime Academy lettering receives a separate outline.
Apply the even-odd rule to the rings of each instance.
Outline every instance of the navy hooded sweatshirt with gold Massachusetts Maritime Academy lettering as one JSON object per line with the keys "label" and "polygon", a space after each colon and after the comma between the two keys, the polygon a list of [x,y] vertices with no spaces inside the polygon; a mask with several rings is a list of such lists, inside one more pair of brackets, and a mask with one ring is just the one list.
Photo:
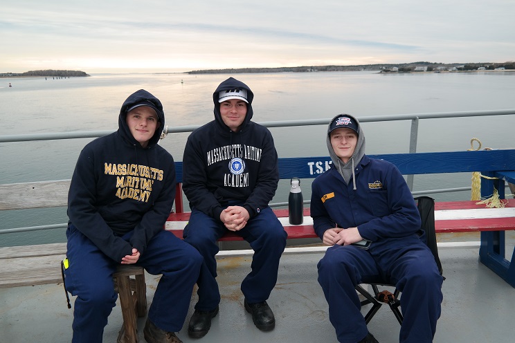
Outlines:
{"label": "navy hooded sweatshirt with gold Massachusetts Maritime Academy lettering", "polygon": [[[125,122],[127,110],[143,102],[154,104],[161,123],[145,148]],[[174,160],[157,145],[164,125],[159,99],[143,89],[136,91],[120,109],[118,131],[87,144],[75,166],[68,194],[69,225],[118,263],[132,254],[133,247],[143,255],[172,210]],[[129,241],[121,238],[132,230]]]}

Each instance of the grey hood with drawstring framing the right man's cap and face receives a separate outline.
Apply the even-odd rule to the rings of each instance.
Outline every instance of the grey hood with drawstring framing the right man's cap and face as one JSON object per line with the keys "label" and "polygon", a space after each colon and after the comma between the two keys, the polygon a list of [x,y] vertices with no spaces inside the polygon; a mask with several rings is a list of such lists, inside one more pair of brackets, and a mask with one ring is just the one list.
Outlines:
{"label": "grey hood with drawstring framing the right man's cap and face", "polygon": [[[343,163],[343,160],[336,156],[336,153],[334,152],[334,149],[331,144],[331,136],[329,135],[333,122],[337,118],[341,118],[342,116],[350,118],[351,121],[354,120],[354,124],[356,124],[357,126],[358,133],[358,142],[356,143],[356,148],[354,149],[354,152],[352,153],[352,156],[347,161],[347,163]],[[327,127],[326,143],[327,149],[329,150],[329,157],[331,158],[334,167],[336,168],[336,170],[338,170],[338,173],[340,173],[340,175],[342,176],[343,180],[345,180],[345,183],[347,183],[347,185],[349,184],[350,178],[352,177],[353,189],[356,190],[356,174],[354,174],[355,165],[358,165],[361,162],[361,158],[363,158],[363,156],[365,155],[365,135],[361,130],[361,125],[359,124],[359,121],[352,115],[348,115],[345,113],[334,116],[334,118],[332,118],[332,120],[329,122],[329,126]]]}

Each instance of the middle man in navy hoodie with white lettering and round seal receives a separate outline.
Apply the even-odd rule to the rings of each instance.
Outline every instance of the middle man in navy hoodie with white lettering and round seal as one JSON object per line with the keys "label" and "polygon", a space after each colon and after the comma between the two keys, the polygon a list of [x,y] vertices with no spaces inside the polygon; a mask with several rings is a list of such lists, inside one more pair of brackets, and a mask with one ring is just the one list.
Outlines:
{"label": "middle man in navy hoodie with white lettering and round seal", "polygon": [[278,185],[278,157],[270,131],[251,121],[253,98],[251,89],[233,77],[219,84],[213,93],[215,120],[193,131],[184,149],[183,189],[191,216],[183,236],[204,257],[190,337],[206,335],[218,313],[215,254],[217,239],[227,230],[255,251],[241,286],[244,308],[260,330],[275,326],[266,299],[277,281],[287,234],[268,207]]}

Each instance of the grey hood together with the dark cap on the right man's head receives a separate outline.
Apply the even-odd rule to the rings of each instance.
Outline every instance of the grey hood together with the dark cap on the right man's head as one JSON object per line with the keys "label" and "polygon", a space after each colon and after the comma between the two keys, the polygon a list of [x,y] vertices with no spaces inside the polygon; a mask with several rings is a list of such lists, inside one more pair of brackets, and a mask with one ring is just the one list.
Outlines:
{"label": "grey hood together with the dark cap on the right man's head", "polygon": [[[334,152],[331,145],[331,131],[342,127],[352,129],[356,131],[356,133],[358,134],[358,142],[356,143],[356,148],[354,149],[354,153],[352,153],[352,156],[347,161],[347,163],[343,163],[343,160],[336,156],[336,153]],[[345,180],[347,185],[349,184],[350,178],[352,176],[352,180],[354,182],[354,189],[356,189],[354,166],[360,163],[361,158],[363,158],[363,156],[365,155],[365,135],[363,134],[363,130],[361,129],[359,121],[352,115],[348,115],[345,113],[336,115],[329,122],[329,126],[327,127],[327,136],[325,137],[325,139],[327,142],[327,150],[329,150],[329,157],[331,158],[334,167],[336,167],[336,169],[343,177],[343,180]]]}

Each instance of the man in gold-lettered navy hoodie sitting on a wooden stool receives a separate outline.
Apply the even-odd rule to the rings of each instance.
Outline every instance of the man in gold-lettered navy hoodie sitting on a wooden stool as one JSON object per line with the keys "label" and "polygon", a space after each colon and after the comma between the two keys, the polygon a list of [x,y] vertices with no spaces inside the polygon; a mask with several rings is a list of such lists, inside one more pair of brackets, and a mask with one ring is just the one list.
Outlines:
{"label": "man in gold-lettered navy hoodie sitting on a wooden stool", "polygon": [[181,340],[202,257],[163,230],[172,210],[175,167],[157,143],[163,106],[141,89],[125,100],[118,131],[82,149],[71,179],[66,231],[66,288],[76,295],[72,342],[102,342],[115,306],[116,266],[143,266],[162,275],[144,328],[149,343]]}

